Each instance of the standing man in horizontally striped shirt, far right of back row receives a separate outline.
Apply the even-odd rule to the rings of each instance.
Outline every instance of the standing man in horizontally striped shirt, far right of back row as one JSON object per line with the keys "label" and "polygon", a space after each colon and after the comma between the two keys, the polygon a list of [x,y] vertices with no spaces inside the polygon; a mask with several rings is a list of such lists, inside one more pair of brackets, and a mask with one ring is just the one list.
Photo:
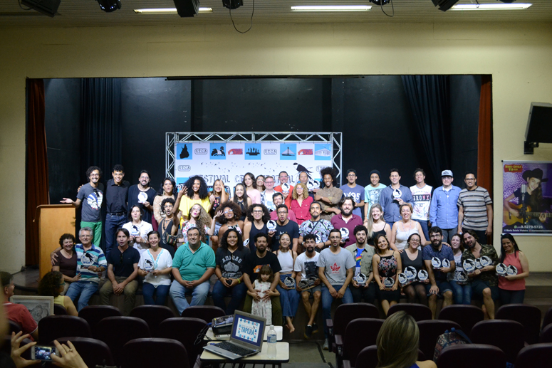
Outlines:
{"label": "standing man in horizontally striped shirt, far right of back row", "polygon": [[458,196],[458,232],[473,230],[481,243],[487,243],[487,236],[493,232],[493,201],[486,189],[477,186],[473,172],[466,173],[464,182],[467,189]]}

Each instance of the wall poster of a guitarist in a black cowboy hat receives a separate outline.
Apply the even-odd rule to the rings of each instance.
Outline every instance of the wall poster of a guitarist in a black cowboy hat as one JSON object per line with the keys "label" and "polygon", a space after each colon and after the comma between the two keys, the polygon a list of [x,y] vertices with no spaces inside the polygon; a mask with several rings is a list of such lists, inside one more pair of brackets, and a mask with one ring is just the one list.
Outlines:
{"label": "wall poster of a guitarist in a black cowboy hat", "polygon": [[502,232],[552,235],[552,162],[503,161]]}

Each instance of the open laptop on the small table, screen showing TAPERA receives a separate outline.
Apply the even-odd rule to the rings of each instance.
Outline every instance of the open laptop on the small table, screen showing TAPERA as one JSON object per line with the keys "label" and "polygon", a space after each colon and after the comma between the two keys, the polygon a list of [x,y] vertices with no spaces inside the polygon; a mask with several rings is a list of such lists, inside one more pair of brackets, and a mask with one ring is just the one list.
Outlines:
{"label": "open laptop on the small table, screen showing TAPERA", "polygon": [[258,354],[263,347],[266,318],[236,310],[230,340],[204,346],[208,352],[228,359],[241,359]]}

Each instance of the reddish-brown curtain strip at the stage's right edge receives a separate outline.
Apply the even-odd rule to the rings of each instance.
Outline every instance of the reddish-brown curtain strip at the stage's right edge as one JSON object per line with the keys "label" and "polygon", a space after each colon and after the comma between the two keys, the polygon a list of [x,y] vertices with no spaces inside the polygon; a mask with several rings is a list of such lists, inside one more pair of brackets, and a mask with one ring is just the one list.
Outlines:
{"label": "reddish-brown curtain strip at the stage's right edge", "polygon": [[477,134],[477,185],[493,197],[493,137],[491,75],[481,75]]}

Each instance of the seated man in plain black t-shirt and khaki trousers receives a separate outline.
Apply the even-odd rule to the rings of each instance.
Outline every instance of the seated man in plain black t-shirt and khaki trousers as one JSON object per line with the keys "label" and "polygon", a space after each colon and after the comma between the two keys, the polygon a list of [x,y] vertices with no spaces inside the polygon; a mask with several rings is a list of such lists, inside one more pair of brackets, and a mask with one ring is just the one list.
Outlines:
{"label": "seated man in plain black t-shirt and khaki trousers", "polygon": [[135,295],[138,288],[138,262],[140,252],[128,246],[130,234],[126,228],[118,228],[115,232],[118,247],[113,248],[106,257],[108,261],[108,280],[100,288],[100,303],[110,305],[111,294],[125,294],[123,315],[129,315],[135,305]]}

